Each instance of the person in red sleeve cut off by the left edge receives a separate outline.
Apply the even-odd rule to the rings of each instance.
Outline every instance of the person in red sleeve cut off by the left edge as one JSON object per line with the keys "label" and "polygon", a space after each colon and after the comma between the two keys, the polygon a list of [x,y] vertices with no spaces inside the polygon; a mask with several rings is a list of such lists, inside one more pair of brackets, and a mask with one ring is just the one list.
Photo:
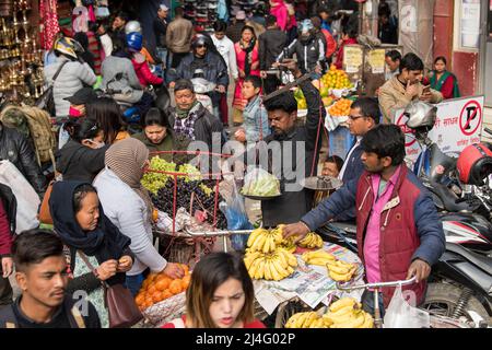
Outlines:
{"label": "person in red sleeve cut off by the left edge", "polygon": [[9,276],[13,271],[13,260],[11,257],[12,234],[10,232],[9,218],[0,200],[0,306],[12,303],[12,288]]}

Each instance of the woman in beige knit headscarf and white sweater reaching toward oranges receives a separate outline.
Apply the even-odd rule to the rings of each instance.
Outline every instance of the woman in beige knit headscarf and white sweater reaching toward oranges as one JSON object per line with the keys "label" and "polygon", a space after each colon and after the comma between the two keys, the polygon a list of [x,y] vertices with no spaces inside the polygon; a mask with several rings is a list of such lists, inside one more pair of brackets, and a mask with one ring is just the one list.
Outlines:
{"label": "woman in beige knit headscarf and white sweater reaching toward oranges", "polygon": [[143,273],[165,272],[181,278],[183,269],[167,262],[152,244],[153,206],[149,192],[140,184],[149,165],[149,150],[139,140],[128,138],[113,144],[105,155],[106,167],[94,179],[101,202],[109,220],[130,237],[134,264],[127,272],[127,287],[136,295]]}

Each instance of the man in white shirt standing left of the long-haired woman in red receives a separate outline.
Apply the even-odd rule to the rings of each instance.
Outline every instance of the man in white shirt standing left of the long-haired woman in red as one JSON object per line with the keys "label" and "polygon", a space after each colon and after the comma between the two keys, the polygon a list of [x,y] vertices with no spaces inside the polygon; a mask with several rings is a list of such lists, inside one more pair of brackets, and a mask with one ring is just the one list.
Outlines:
{"label": "man in white shirt standing left of the long-haired woman in red", "polygon": [[[225,36],[225,30],[227,25],[223,21],[216,21],[213,24],[213,35],[212,42],[215,46],[219,54],[221,54],[222,58],[225,61],[225,65],[227,66],[227,72],[231,78],[237,80],[238,71],[237,71],[237,61],[236,61],[236,51],[234,49],[234,43]],[[222,116],[222,122],[224,125],[229,124],[229,107],[227,107],[227,90],[225,93],[221,95],[221,103],[220,103],[220,114]]]}

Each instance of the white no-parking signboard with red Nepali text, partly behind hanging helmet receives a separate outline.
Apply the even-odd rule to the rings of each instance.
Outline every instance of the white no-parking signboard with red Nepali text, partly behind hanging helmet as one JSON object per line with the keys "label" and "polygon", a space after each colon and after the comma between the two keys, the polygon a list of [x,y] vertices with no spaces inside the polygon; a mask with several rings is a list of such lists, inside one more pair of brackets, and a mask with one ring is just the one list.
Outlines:
{"label": "white no-parking signboard with red Nepali text, partly behind hanging helmet", "polygon": [[[437,143],[444,153],[459,153],[467,145],[480,142],[483,124],[484,96],[446,100],[437,107],[437,117],[429,138]],[[406,133],[407,160],[415,162],[422,151],[413,130],[406,126],[403,109],[395,113],[394,122]]]}

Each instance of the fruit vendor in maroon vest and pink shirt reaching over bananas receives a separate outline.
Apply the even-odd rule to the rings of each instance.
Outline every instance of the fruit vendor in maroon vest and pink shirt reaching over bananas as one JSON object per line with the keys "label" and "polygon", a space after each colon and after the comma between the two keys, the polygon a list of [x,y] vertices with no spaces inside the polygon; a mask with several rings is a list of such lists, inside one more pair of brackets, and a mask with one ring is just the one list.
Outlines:
{"label": "fruit vendor in maroon vest and pink shirt reaching over bananas", "polygon": [[[365,172],[343,185],[284,229],[284,236],[297,240],[315,231],[333,217],[355,207],[359,257],[370,283],[390,282],[415,277],[403,287],[413,292],[414,302],[425,296],[431,267],[445,249],[443,224],[430,192],[405,165],[405,136],[395,125],[380,125],[362,140]],[[394,288],[383,288],[379,307],[388,307]],[[373,314],[374,295],[362,295],[365,311]]]}

